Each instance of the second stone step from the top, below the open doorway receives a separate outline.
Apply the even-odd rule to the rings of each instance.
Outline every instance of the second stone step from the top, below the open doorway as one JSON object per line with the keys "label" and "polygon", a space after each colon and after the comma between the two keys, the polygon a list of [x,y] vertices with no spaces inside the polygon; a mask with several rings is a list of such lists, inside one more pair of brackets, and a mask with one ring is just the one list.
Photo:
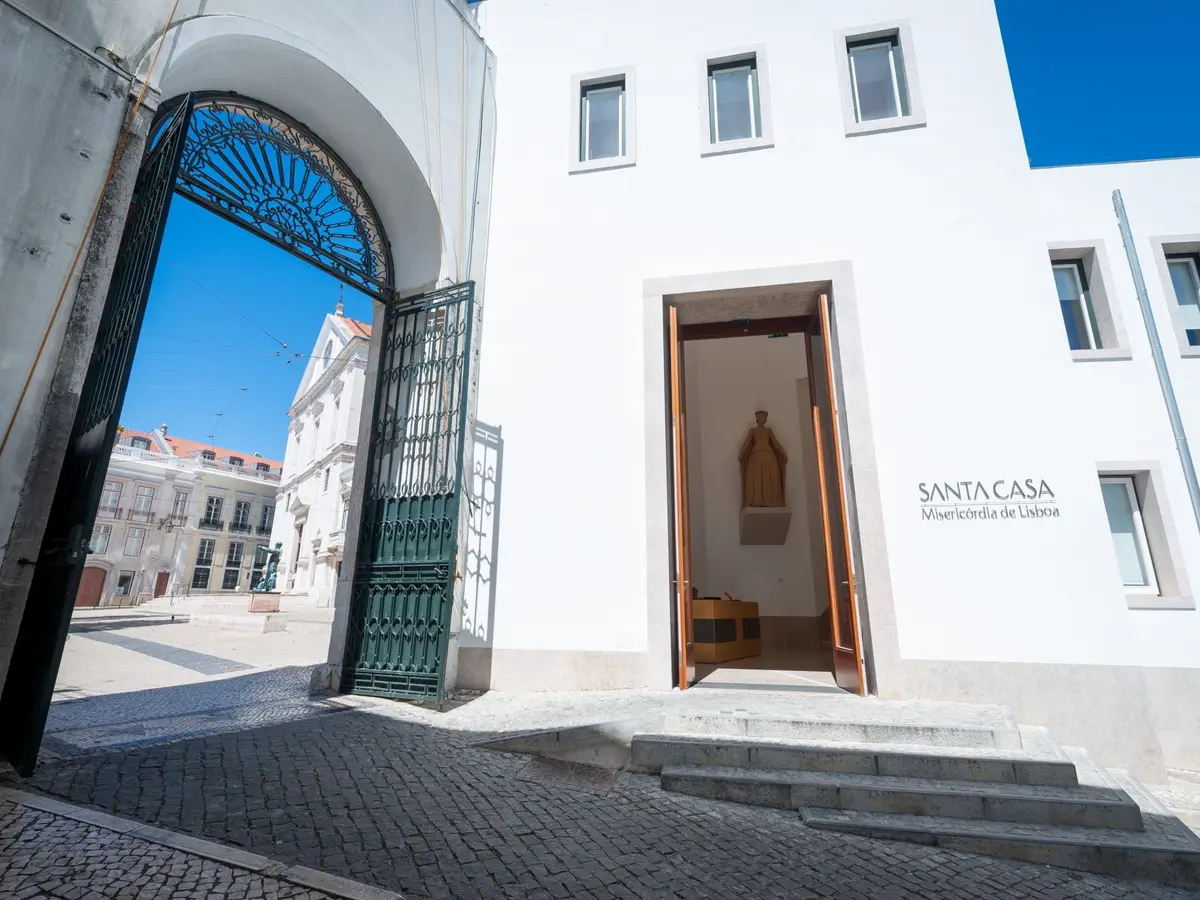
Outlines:
{"label": "second stone step from the top, below the open doorway", "polygon": [[632,766],[650,773],[665,766],[733,766],[746,769],[889,775],[949,781],[1074,787],[1074,764],[1052,755],[958,749],[920,752],[904,744],[767,740],[696,734],[634,734]]}

